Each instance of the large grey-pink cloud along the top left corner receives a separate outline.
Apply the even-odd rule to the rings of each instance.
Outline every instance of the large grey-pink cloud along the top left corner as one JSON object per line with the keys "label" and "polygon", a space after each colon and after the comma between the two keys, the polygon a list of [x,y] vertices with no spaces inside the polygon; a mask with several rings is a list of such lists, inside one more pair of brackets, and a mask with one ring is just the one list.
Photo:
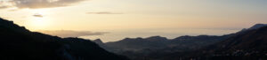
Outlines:
{"label": "large grey-pink cloud along the top left corner", "polygon": [[0,2],[0,5],[2,5],[2,8],[38,9],[69,6],[70,4],[76,4],[82,1],[85,0],[8,0]]}

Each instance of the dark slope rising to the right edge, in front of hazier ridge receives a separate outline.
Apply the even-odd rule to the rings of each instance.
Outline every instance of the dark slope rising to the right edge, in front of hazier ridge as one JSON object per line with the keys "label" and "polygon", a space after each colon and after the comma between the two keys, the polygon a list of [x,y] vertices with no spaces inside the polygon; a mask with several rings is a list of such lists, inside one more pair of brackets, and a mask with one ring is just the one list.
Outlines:
{"label": "dark slope rising to the right edge, in front of hazier ridge", "polygon": [[176,52],[161,57],[163,60],[266,60],[267,26],[233,34],[206,48]]}

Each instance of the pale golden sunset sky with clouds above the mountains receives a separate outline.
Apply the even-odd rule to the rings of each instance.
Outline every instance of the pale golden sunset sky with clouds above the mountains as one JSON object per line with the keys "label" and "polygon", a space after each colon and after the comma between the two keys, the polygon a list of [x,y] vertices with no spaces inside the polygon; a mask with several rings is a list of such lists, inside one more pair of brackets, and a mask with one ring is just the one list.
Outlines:
{"label": "pale golden sunset sky with clouds above the mountains", "polygon": [[231,34],[266,24],[267,1],[0,0],[0,17],[31,31],[60,32],[56,35],[61,37],[118,41],[161,35],[173,39]]}

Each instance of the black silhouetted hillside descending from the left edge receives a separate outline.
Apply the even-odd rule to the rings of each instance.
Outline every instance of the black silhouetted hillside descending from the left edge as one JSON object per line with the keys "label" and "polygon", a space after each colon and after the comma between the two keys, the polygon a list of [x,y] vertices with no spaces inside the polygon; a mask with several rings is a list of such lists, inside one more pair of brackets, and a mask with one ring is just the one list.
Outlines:
{"label": "black silhouetted hillside descending from the left edge", "polygon": [[93,41],[30,32],[0,19],[0,60],[128,60]]}

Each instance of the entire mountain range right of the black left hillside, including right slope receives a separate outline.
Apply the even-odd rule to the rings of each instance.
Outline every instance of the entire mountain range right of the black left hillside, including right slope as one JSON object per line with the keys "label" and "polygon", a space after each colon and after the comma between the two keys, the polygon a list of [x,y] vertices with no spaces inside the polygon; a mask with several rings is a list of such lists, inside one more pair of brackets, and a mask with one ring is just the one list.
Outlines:
{"label": "entire mountain range right of the black left hillside, including right slope", "polygon": [[[266,24],[256,24],[238,33],[222,36],[185,35],[175,39],[151,36],[149,38],[125,38],[121,41],[106,43],[101,42],[101,40],[95,42],[104,49],[128,56],[133,60],[190,60],[190,58],[197,60],[244,60],[247,58],[244,57],[245,55],[248,56],[248,60],[255,60],[267,56],[267,52],[263,51],[267,49],[266,26]],[[237,52],[242,52],[242,56],[234,57],[238,56]],[[252,58],[249,59],[249,57]]]}

